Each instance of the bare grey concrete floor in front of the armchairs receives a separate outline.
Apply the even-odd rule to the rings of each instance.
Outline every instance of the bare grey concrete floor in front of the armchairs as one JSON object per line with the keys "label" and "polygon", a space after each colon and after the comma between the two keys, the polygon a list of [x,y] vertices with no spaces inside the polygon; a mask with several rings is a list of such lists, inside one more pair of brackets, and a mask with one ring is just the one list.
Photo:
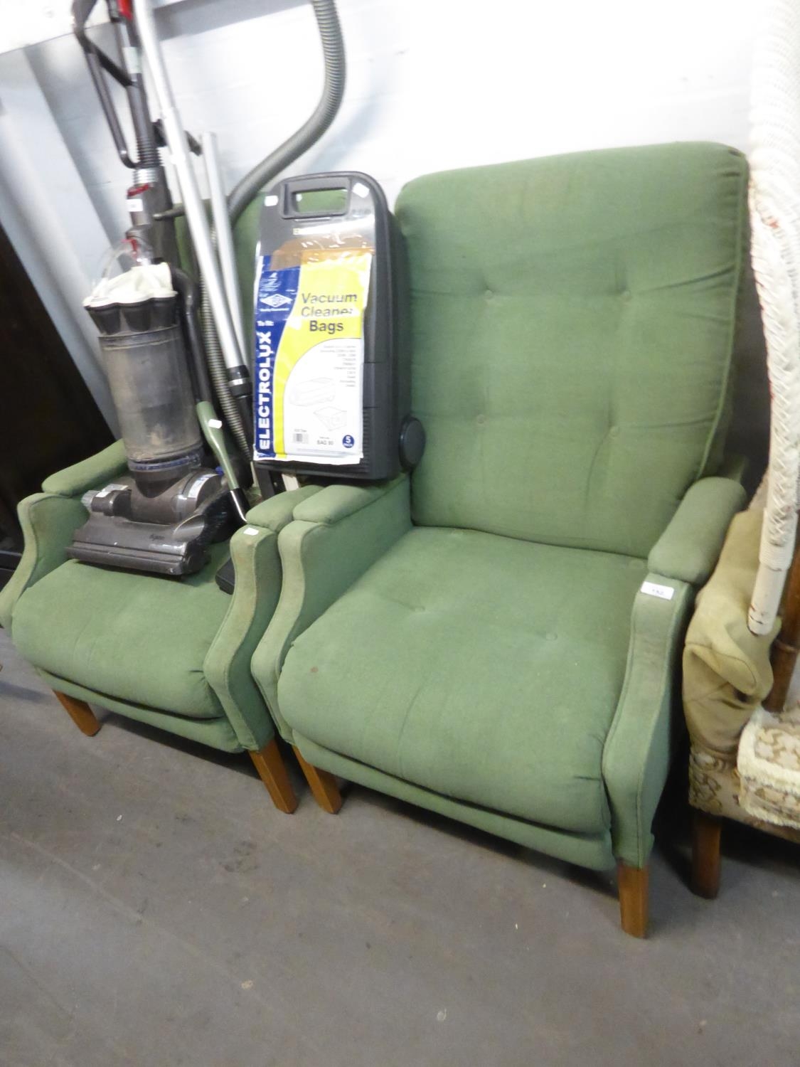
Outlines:
{"label": "bare grey concrete floor in front of the armchairs", "polygon": [[800,1061],[798,854],[732,827],[697,899],[679,782],[636,941],[608,875],[357,787],[282,815],[246,757],[84,737],[0,662],[3,1067]]}

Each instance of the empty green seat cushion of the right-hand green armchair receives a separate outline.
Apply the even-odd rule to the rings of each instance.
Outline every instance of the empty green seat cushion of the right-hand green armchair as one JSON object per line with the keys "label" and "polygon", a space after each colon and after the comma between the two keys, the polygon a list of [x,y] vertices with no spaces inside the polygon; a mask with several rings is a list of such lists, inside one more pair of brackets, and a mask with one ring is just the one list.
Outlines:
{"label": "empty green seat cushion of the right-hand green armchair", "polygon": [[395,778],[603,831],[603,746],[644,574],[611,553],[415,528],[294,641],[282,714]]}

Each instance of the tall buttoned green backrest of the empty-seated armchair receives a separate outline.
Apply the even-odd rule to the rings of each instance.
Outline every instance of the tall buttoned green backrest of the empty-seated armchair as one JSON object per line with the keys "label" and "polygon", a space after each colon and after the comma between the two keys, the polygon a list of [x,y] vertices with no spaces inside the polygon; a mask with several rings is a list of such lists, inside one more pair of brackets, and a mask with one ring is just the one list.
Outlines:
{"label": "tall buttoned green backrest of the empty-seated armchair", "polygon": [[414,521],[645,556],[724,435],[747,163],[717,144],[402,191]]}

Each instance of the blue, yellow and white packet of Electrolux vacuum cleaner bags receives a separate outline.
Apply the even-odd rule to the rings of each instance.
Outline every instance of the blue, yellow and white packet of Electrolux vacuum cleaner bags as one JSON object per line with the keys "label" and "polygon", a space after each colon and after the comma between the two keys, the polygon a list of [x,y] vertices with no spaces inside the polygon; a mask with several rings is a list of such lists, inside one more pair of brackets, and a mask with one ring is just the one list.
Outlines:
{"label": "blue, yellow and white packet of Electrolux vacuum cleaner bags", "polygon": [[358,463],[372,253],[315,250],[256,265],[256,460]]}

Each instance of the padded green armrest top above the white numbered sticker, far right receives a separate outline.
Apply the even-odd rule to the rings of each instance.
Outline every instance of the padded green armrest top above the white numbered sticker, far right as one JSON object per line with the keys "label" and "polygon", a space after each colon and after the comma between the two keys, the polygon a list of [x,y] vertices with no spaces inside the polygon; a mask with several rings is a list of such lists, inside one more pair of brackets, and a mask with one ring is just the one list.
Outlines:
{"label": "padded green armrest top above the white numbered sticker, far right", "polygon": [[701,478],[681,501],[672,522],[653,546],[647,566],[666,578],[692,586],[708,580],[731,520],[746,493],[730,478]]}

